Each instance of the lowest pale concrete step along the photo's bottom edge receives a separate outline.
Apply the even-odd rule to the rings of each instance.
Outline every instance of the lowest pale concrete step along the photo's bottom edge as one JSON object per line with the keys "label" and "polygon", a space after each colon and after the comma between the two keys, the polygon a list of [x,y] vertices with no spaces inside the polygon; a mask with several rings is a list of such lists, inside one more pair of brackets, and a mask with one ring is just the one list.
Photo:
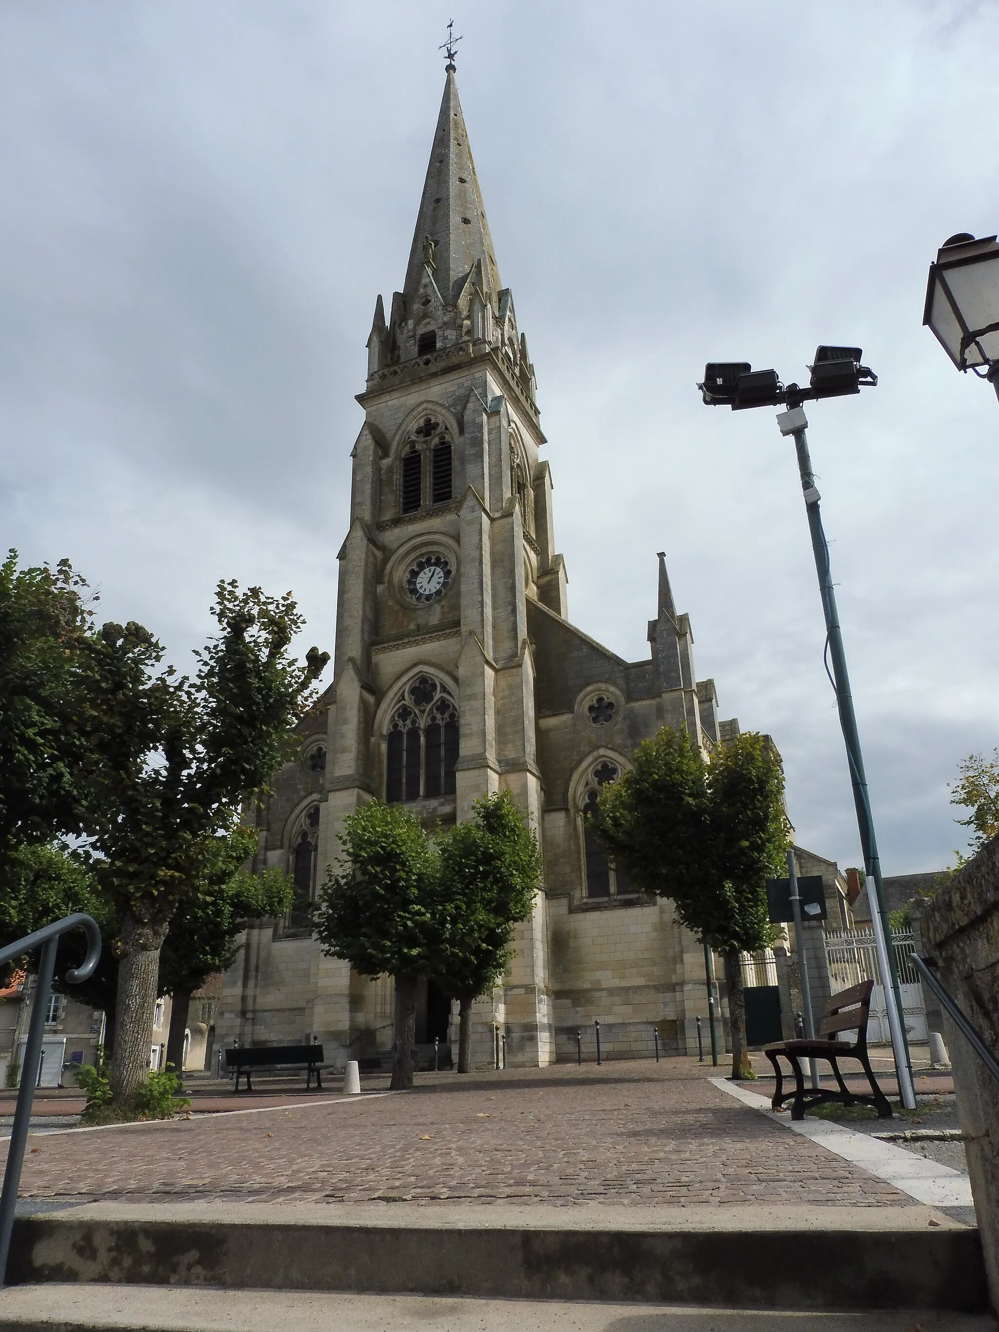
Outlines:
{"label": "lowest pale concrete step along the photo's bottom edge", "polygon": [[0,1291],[0,1332],[995,1332],[987,1316],[317,1295],[161,1285]]}

